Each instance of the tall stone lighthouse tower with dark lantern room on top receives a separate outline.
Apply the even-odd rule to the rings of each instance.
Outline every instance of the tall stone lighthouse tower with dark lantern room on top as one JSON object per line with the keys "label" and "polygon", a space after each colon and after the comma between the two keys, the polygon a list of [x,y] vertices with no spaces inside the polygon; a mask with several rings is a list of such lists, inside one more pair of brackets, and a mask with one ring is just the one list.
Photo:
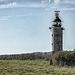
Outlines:
{"label": "tall stone lighthouse tower with dark lantern room on top", "polygon": [[61,19],[59,18],[59,12],[55,11],[55,19],[53,25],[49,27],[52,32],[52,53],[63,50],[63,30]]}

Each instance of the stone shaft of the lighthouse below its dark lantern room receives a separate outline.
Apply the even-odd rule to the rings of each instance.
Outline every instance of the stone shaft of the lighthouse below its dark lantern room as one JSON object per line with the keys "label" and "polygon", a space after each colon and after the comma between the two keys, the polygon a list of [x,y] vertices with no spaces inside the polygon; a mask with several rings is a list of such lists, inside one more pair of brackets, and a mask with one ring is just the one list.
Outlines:
{"label": "stone shaft of the lighthouse below its dark lantern room", "polygon": [[63,28],[52,26],[52,51],[63,50]]}

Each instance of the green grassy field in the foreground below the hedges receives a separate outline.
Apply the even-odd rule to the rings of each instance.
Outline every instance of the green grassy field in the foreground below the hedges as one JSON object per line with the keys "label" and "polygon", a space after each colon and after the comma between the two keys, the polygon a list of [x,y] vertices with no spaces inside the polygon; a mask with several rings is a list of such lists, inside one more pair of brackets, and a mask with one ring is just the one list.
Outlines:
{"label": "green grassy field in the foreground below the hedges", "polygon": [[45,60],[0,60],[0,75],[75,75],[75,67],[54,67]]}

